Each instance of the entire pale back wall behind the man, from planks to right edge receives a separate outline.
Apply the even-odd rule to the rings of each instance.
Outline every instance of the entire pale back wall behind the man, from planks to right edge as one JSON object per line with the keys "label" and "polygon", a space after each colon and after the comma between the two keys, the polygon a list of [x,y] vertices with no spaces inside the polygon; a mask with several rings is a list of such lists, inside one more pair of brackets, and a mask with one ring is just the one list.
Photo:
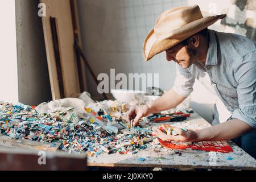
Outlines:
{"label": "entire pale back wall behind the man, from planks to right edge", "polygon": [[[93,70],[97,74],[109,74],[110,68],[126,74],[159,73],[159,86],[163,89],[169,89],[174,84],[174,63],[168,63],[164,53],[145,63],[142,45],[146,35],[154,27],[156,18],[164,10],[197,4],[204,11],[227,13],[228,22],[218,21],[210,28],[246,34],[255,40],[255,18],[250,18],[254,15],[251,10],[255,11],[255,1],[252,0],[78,0],[78,3],[83,48]],[[236,3],[237,6],[232,6]],[[96,85],[92,77],[87,78],[89,92],[95,96]],[[213,105],[217,97],[196,81],[191,100],[191,107],[212,122]]]}

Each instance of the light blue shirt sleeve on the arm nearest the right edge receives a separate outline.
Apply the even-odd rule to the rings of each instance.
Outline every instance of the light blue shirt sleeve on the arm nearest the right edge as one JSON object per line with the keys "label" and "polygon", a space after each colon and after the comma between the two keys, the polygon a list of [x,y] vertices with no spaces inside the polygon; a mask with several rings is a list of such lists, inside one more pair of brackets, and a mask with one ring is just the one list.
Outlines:
{"label": "light blue shirt sleeve on the arm nearest the right edge", "polygon": [[256,51],[243,57],[242,64],[234,70],[234,77],[238,82],[239,109],[234,110],[232,117],[256,129]]}

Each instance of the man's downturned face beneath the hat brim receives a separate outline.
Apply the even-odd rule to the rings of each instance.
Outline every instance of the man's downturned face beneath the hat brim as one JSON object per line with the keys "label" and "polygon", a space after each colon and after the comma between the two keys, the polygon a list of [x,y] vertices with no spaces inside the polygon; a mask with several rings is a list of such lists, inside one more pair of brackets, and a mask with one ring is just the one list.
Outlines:
{"label": "man's downturned face beneath the hat brim", "polygon": [[196,49],[184,46],[182,43],[171,47],[166,51],[166,60],[175,61],[180,67],[186,69],[196,61]]}

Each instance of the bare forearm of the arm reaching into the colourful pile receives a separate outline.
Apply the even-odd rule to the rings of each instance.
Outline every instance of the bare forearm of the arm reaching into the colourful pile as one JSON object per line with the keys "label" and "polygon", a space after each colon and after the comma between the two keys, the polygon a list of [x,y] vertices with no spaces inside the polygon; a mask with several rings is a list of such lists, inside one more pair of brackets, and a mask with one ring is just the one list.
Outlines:
{"label": "bare forearm of the arm reaching into the colourful pile", "polygon": [[150,105],[148,105],[148,108],[150,110],[150,113],[159,113],[160,111],[176,107],[181,102],[183,102],[185,98],[186,97],[180,96],[179,94],[174,92],[174,90],[170,89],[166,93],[164,93],[162,97],[158,98]]}

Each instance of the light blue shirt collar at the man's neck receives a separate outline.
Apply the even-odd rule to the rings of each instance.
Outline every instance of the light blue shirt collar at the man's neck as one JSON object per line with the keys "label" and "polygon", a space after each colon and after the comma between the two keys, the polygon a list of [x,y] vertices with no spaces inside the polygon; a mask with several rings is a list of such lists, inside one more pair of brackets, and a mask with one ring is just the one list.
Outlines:
{"label": "light blue shirt collar at the man's neck", "polygon": [[205,65],[217,64],[217,40],[214,31],[209,30],[209,48]]}

